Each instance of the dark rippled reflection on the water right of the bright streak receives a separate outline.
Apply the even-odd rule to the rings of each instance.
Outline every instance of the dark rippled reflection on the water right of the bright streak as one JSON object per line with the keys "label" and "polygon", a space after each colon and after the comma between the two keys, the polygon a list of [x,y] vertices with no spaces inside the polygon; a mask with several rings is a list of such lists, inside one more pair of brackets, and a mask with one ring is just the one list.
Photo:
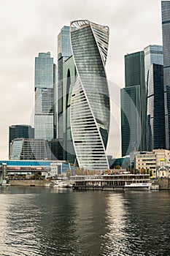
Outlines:
{"label": "dark rippled reflection on the water right of the bright streak", "polygon": [[169,192],[134,193],[127,198],[125,232],[135,255],[169,256]]}

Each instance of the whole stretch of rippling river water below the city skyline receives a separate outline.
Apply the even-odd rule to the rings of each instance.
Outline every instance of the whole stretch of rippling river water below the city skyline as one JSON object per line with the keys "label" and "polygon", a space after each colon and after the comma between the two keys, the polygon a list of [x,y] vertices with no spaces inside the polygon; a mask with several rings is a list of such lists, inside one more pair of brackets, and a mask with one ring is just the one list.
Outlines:
{"label": "whole stretch of rippling river water below the city skyline", "polygon": [[0,187],[0,255],[170,256],[170,192]]}

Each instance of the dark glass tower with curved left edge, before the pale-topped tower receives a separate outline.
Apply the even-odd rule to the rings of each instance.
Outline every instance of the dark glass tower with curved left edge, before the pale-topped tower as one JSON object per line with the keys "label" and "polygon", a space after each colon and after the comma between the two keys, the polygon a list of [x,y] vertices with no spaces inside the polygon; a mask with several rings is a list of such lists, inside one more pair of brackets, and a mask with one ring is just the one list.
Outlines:
{"label": "dark glass tower with curved left edge, before the pale-topped tower", "polygon": [[147,151],[166,148],[163,65],[152,64],[147,79]]}

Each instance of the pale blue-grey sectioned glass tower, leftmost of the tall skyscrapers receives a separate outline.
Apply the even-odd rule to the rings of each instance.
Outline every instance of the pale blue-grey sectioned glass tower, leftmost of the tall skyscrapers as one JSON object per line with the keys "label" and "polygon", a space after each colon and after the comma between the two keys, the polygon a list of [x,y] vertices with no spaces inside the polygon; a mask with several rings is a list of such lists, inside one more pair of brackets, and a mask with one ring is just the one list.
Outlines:
{"label": "pale blue-grey sectioned glass tower, leftmost of the tall skyscrapers", "polygon": [[55,64],[50,52],[39,53],[35,58],[35,116],[34,137],[54,138],[54,85]]}

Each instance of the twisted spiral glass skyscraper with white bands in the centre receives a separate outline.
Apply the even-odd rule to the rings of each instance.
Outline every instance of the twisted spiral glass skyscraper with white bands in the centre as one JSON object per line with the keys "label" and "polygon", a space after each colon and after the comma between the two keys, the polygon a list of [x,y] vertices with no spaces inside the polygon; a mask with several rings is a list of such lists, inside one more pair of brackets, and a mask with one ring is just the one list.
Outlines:
{"label": "twisted spiral glass skyscraper with white bands in the centre", "polygon": [[71,23],[70,31],[77,70],[70,110],[77,162],[88,170],[107,170],[109,91],[105,63],[109,28],[77,20]]}

